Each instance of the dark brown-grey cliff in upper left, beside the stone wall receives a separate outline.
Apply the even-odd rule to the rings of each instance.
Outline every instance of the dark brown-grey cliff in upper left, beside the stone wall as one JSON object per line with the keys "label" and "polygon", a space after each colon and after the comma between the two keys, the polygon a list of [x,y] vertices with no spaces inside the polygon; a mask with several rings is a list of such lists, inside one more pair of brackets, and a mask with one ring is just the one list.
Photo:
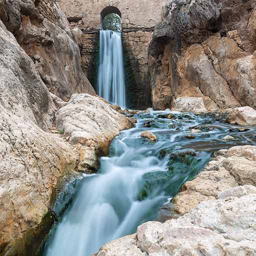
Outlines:
{"label": "dark brown-grey cliff in upper left, beside the stone wall", "polygon": [[2,0],[0,18],[52,93],[64,100],[76,92],[95,94],[82,70],[69,23],[54,0]]}

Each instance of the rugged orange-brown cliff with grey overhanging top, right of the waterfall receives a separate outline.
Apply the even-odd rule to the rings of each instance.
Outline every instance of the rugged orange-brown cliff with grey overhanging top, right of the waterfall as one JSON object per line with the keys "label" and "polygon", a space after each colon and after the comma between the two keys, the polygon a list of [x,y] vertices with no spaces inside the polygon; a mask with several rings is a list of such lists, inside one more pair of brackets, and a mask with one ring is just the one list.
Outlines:
{"label": "rugged orange-brown cliff with grey overhanging top, right of the waterfall", "polygon": [[149,47],[153,107],[207,96],[220,109],[256,108],[254,8],[255,0],[166,4]]}

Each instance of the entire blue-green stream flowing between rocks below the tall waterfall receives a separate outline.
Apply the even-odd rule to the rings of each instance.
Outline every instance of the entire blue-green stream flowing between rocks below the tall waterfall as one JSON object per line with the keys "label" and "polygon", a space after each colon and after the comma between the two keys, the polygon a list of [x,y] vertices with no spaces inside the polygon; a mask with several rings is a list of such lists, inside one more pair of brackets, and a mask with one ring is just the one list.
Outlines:
{"label": "entire blue-green stream flowing between rocks below the tall waterfall", "polygon": [[[89,256],[104,243],[135,232],[139,224],[156,219],[158,209],[196,176],[213,151],[255,143],[253,127],[239,131],[242,126],[191,113],[173,112],[167,119],[169,112],[138,114],[136,126],[112,141],[98,173],[80,182],[43,255]],[[198,126],[202,133],[190,132]],[[157,141],[140,137],[144,130],[156,134]],[[195,138],[185,138],[188,134]],[[221,140],[227,134],[235,140]]]}

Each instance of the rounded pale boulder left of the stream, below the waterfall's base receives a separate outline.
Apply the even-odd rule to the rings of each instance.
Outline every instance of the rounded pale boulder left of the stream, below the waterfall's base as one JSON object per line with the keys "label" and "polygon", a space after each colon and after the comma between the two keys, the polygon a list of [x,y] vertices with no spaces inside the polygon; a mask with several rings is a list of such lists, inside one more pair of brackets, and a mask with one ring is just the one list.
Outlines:
{"label": "rounded pale boulder left of the stream, below the waterfall's base", "polygon": [[68,103],[56,112],[56,128],[76,144],[80,152],[78,169],[95,170],[98,156],[106,155],[111,140],[120,130],[131,128],[127,117],[110,104],[89,94],[73,94]]}

